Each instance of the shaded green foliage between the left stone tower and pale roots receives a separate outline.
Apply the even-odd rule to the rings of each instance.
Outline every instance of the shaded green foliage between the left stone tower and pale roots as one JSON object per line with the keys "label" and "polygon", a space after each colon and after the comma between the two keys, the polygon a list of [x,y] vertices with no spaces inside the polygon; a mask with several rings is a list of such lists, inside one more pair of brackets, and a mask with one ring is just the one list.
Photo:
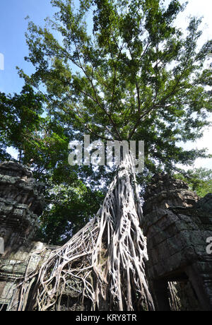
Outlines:
{"label": "shaded green foliage between the left stone tower and pale roots", "polygon": [[[73,186],[74,185],[74,186]],[[40,219],[40,237],[53,244],[64,244],[97,213],[104,199],[83,182],[72,186],[54,185],[45,201],[50,203]]]}

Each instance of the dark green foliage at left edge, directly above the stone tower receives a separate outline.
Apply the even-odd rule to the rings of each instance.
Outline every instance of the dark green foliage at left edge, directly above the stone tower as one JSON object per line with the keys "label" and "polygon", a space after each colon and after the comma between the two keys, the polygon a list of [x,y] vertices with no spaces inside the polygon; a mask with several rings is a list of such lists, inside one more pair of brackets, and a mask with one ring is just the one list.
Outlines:
{"label": "dark green foliage at left edge, directly above the stone tower", "polygon": [[30,85],[24,85],[20,95],[0,93],[0,160],[8,159],[6,147],[13,146],[20,153],[27,150],[30,137],[40,128],[44,98]]}

